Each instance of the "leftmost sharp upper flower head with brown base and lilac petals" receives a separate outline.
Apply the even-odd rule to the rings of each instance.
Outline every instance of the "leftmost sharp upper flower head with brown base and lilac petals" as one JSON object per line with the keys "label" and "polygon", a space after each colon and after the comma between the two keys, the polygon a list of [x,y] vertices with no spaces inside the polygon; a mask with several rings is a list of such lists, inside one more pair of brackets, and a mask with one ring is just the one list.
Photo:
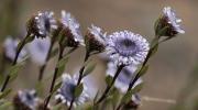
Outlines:
{"label": "leftmost sharp upper flower head with brown base and lilac petals", "polygon": [[50,36],[55,29],[57,29],[57,25],[52,11],[38,12],[28,22],[28,33],[37,37]]}

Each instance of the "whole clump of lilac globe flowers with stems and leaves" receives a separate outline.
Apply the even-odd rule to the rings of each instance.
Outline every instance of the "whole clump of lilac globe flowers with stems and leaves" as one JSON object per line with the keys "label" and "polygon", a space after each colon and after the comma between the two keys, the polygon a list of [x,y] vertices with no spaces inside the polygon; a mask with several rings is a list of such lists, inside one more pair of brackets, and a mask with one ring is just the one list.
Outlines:
{"label": "whole clump of lilac globe flowers with stems and leaves", "polygon": [[[161,43],[184,34],[180,19],[172,8],[164,8],[162,15],[154,25],[155,37],[148,41],[131,31],[117,31],[107,34],[100,28],[90,25],[81,34],[80,24],[75,18],[62,11],[61,19],[55,19],[51,11],[32,15],[26,23],[26,36],[20,42],[12,37],[4,41],[3,57],[12,62],[4,80],[0,86],[0,108],[14,110],[136,110],[141,105],[140,90],[143,86],[142,76],[148,69],[148,59],[157,52]],[[55,46],[57,44],[57,46]],[[78,47],[85,48],[84,63],[76,74],[64,73],[69,55]],[[91,86],[89,76],[96,64],[91,56],[107,53],[108,64],[106,88],[100,90]],[[57,55],[52,81],[45,87],[48,92],[41,92],[45,81],[44,72],[47,63]],[[8,87],[15,79],[26,57],[38,64],[36,87],[32,90],[19,90],[12,101],[6,97],[10,94]],[[69,65],[69,64],[67,64]],[[4,70],[6,72],[6,70]],[[48,79],[48,78],[47,78]],[[43,88],[42,88],[43,89]],[[98,92],[94,94],[92,91]],[[36,94],[37,92],[37,94]],[[54,98],[53,98],[54,97]],[[54,101],[52,101],[54,99]]]}

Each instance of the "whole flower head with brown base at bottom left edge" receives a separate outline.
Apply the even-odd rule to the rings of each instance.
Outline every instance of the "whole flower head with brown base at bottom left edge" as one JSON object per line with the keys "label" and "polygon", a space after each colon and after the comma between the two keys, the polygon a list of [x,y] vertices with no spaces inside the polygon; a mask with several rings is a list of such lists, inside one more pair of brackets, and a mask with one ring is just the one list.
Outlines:
{"label": "whole flower head with brown base at bottom left edge", "polygon": [[35,90],[20,90],[13,99],[16,110],[36,110],[37,102]]}

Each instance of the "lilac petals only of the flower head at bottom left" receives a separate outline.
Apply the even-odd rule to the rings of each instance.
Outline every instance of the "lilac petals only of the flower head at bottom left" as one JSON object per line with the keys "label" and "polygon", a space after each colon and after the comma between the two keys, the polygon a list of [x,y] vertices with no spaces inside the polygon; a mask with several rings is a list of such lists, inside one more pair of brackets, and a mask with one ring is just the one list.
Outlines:
{"label": "lilac petals only of the flower head at bottom left", "polygon": [[18,100],[15,101],[20,101],[21,106],[24,105],[31,110],[36,110],[40,99],[36,97],[35,90],[20,90],[16,95],[16,98]]}

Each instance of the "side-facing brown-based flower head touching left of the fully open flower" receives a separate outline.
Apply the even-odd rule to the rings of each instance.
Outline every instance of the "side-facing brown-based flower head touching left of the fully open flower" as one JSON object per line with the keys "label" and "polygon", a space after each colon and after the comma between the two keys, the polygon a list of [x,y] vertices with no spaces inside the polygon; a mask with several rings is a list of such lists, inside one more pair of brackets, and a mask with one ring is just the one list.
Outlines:
{"label": "side-facing brown-based flower head touching left of the fully open flower", "polygon": [[102,52],[106,48],[105,42],[106,33],[94,24],[88,29],[87,35],[85,37],[86,47],[88,52]]}

